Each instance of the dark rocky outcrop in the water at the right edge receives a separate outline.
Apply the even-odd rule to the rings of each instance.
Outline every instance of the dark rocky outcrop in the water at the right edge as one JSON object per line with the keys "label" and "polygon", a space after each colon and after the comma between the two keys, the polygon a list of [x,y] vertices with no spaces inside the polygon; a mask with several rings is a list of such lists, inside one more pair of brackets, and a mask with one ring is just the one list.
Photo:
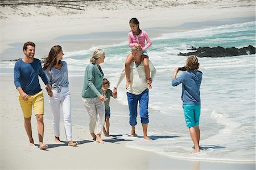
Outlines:
{"label": "dark rocky outcrop in the water at the right edge", "polygon": [[255,54],[255,47],[249,45],[243,48],[223,48],[223,47],[191,47],[189,50],[196,50],[195,52],[179,53],[179,56],[195,55],[198,57],[230,57]]}

